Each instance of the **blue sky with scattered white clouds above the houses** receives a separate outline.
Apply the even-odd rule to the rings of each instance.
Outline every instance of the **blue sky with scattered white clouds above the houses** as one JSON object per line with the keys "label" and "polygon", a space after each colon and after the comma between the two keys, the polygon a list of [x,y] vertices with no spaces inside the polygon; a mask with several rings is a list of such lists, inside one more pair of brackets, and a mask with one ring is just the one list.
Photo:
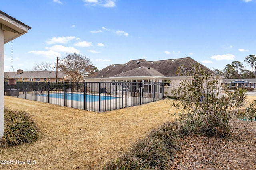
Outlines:
{"label": "blue sky with scattered white clouds above the houses", "polygon": [[[256,0],[4,0],[0,10],[32,27],[13,41],[15,71],[54,65],[65,53],[86,55],[99,70],[187,56],[223,70],[256,54]],[[10,42],[4,62],[9,71]]]}

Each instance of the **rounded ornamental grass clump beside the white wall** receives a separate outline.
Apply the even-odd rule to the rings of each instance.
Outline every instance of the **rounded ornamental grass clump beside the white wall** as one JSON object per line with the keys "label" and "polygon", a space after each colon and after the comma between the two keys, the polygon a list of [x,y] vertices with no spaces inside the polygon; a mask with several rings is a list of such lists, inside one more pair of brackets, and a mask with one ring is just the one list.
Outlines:
{"label": "rounded ornamental grass clump beside the white wall", "polygon": [[31,116],[25,111],[4,109],[4,136],[0,147],[30,143],[39,139],[39,131]]}

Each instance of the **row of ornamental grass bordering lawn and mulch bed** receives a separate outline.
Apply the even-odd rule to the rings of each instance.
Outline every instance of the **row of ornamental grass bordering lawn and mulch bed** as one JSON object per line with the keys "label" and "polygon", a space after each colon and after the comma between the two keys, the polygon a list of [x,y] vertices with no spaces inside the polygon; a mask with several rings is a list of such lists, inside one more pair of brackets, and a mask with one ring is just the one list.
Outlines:
{"label": "row of ornamental grass bordering lawn and mulch bed", "polygon": [[180,150],[177,129],[176,122],[162,125],[134,143],[129,152],[107,162],[102,170],[168,169],[176,150]]}

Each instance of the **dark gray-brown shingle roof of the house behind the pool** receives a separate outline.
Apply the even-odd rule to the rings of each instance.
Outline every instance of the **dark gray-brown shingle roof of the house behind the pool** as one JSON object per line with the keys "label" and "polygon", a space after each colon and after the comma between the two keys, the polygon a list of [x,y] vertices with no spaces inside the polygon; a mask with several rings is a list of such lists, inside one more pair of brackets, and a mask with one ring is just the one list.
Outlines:
{"label": "dark gray-brown shingle roof of the house behind the pool", "polygon": [[[164,77],[176,77],[177,68],[181,65],[191,66],[192,64],[198,63],[190,57],[181,59],[168,59],[158,61],[146,61],[145,59],[131,60],[125,64],[112,64],[96,72],[92,76],[87,78],[109,78],[109,77],[121,77],[121,76],[164,76]],[[140,71],[136,72],[141,67]],[[203,69],[214,73],[212,70],[203,66]],[[150,68],[148,72],[145,72],[147,68]],[[216,73],[214,73],[216,74]]]}

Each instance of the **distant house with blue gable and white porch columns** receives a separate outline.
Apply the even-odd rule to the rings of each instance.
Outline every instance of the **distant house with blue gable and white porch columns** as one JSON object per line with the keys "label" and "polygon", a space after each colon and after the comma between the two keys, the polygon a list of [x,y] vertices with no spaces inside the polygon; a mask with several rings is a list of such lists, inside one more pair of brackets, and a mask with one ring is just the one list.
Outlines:
{"label": "distant house with blue gable and white porch columns", "polygon": [[242,88],[242,87],[256,88],[256,79],[255,78],[224,79],[223,82],[225,84],[228,84],[231,88]]}

